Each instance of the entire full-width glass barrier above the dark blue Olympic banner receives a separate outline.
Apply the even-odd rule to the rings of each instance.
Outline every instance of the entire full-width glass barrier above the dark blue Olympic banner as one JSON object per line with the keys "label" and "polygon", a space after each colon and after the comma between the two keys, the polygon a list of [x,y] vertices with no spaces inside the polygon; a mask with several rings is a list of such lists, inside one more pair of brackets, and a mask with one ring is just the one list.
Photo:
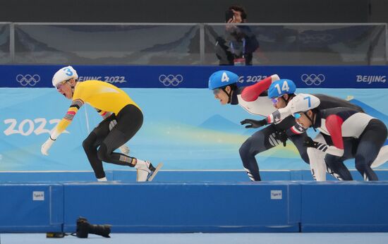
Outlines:
{"label": "entire full-width glass barrier above the dark blue Olympic banner", "polygon": [[0,63],[385,65],[387,24],[0,23]]}

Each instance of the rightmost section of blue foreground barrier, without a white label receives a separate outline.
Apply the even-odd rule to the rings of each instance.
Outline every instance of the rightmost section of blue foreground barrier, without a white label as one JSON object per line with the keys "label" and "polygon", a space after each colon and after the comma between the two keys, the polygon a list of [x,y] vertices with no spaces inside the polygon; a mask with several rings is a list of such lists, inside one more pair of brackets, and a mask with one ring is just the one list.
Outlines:
{"label": "rightmost section of blue foreground barrier, without a white label", "polygon": [[302,232],[388,231],[388,182],[301,182]]}

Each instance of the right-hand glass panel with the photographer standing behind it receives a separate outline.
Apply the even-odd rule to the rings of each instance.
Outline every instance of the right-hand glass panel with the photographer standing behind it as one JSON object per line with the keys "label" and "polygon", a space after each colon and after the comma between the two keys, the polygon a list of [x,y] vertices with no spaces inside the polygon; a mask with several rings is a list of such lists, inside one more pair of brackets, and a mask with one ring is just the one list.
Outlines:
{"label": "right-hand glass panel with the photographer standing behind it", "polygon": [[253,56],[253,65],[384,65],[387,61],[385,24],[214,24],[205,25],[205,40],[206,64],[231,64],[243,52],[247,59]]}

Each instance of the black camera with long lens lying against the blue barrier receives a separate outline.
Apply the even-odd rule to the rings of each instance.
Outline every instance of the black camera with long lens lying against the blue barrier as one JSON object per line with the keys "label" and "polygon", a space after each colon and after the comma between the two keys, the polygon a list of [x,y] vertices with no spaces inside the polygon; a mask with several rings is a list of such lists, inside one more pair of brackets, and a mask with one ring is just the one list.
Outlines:
{"label": "black camera with long lens lying against the blue barrier", "polygon": [[111,226],[107,224],[89,224],[84,217],[78,217],[76,236],[78,238],[87,238],[89,233],[110,238]]}

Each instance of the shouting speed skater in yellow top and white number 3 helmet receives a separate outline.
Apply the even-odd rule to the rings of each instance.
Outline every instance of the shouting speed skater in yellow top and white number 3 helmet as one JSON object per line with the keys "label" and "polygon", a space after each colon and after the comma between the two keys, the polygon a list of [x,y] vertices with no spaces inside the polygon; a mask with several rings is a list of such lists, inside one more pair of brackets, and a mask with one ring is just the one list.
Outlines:
{"label": "shouting speed skater in yellow top and white number 3 helmet", "polygon": [[83,141],[83,149],[97,180],[107,181],[102,166],[102,161],[105,161],[135,167],[138,172],[137,181],[152,181],[162,164],[154,168],[150,161],[129,157],[129,150],[124,153],[114,152],[119,147],[125,148],[125,143],[143,125],[143,112],[138,104],[135,104],[126,92],[114,85],[100,80],[78,82],[77,79],[78,74],[71,66],[61,68],[54,74],[52,80],[54,87],[72,102],[66,115],[42,145],[42,154],[48,155],[51,145],[73,121],[80,107],[86,103],[97,109],[104,118]]}

